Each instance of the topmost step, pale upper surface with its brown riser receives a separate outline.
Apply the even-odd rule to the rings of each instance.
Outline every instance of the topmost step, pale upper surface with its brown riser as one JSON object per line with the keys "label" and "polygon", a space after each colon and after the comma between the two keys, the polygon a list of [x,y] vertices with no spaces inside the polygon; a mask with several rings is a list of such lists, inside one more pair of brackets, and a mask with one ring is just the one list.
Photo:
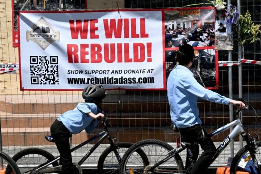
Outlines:
{"label": "topmost step, pale upper surface with its brown riser", "polygon": [[[4,98],[5,97],[5,98]],[[15,98],[16,97],[16,98]],[[0,111],[13,114],[53,114],[63,113],[73,109],[78,102],[84,102],[79,95],[36,95],[32,96],[2,96],[0,95]],[[121,97],[121,98],[120,98]],[[261,107],[261,101],[256,101]],[[199,110],[222,111],[229,110],[227,105],[219,105],[200,100]],[[257,108],[260,108],[257,107]],[[103,101],[106,112],[168,112],[169,104],[165,95],[132,96],[108,95]]]}

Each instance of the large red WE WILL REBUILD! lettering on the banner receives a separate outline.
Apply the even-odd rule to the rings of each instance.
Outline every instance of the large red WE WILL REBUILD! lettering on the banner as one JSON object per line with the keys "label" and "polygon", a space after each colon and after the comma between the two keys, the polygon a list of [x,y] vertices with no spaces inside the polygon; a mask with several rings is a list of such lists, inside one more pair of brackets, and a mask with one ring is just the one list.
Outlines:
{"label": "large red WE WILL REBUILD! lettering on the banner", "polygon": [[[130,19],[103,19],[105,38],[149,38],[146,33],[145,18]],[[94,20],[70,20],[70,31],[72,39],[99,39],[97,34],[99,28],[98,19]],[[136,26],[140,26],[137,33]],[[89,27],[90,26],[90,27]],[[146,44],[142,42],[130,43],[82,43],[80,45],[67,44],[68,62],[69,63],[132,63],[146,61],[151,62],[151,42]],[[130,47],[133,50],[133,57],[130,57]],[[87,57],[87,59],[86,59]]]}

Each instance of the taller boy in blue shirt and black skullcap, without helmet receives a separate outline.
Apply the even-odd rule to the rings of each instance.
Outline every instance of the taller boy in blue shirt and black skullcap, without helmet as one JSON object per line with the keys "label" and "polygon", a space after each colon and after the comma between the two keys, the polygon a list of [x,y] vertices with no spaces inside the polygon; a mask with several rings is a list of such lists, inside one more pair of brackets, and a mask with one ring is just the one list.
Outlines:
{"label": "taller boy in blue shirt and black skullcap, without helmet", "polygon": [[[194,57],[194,49],[191,45],[185,44],[179,47],[176,54],[177,66],[168,77],[167,95],[170,104],[171,122],[175,127],[179,128],[184,142],[189,146],[187,148],[186,173],[202,174],[213,162],[211,158],[216,152],[216,147],[201,126],[197,97],[219,104],[229,105],[231,103],[235,106],[238,104],[239,108],[244,108],[245,104],[219,95],[199,84],[189,70]],[[203,150],[198,160],[199,145],[193,145],[194,142],[200,144]],[[195,165],[189,166],[194,161],[196,161]]]}

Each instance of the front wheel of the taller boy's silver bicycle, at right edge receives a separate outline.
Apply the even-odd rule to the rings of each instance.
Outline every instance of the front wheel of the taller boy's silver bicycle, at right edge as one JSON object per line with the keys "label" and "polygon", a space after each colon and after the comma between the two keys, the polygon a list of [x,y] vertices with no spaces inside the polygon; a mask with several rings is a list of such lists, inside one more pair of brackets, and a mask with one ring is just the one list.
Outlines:
{"label": "front wheel of the taller boy's silver bicycle, at right edge", "polygon": [[[256,141],[256,146],[257,146],[257,151],[255,153],[255,157],[257,159],[258,166],[259,166],[259,172],[260,172],[261,171],[261,152],[260,152],[261,141]],[[247,157],[247,159],[242,160],[242,157],[243,157],[243,159],[245,159],[245,157]],[[241,168],[239,166],[245,166],[246,163],[254,164],[253,159],[250,156],[249,149],[247,148],[247,146],[244,146],[234,156],[232,163],[231,163],[231,167],[230,167],[230,174],[236,174],[236,171],[244,171],[243,168]],[[256,173],[256,172],[253,172],[253,173]]]}

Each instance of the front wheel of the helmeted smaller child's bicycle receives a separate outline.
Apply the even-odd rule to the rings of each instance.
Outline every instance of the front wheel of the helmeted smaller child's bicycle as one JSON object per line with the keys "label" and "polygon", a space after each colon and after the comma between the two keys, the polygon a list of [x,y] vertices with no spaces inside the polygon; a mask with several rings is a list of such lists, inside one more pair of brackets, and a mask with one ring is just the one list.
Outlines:
{"label": "front wheel of the helmeted smaller child's bicycle", "polygon": [[[123,154],[126,152],[126,150],[128,148],[130,148],[133,144],[129,143],[129,142],[119,142],[117,144],[115,144],[117,151],[119,152],[119,155],[122,157]],[[141,157],[143,159],[146,159],[146,155],[144,152],[139,152],[139,154],[141,155]],[[118,170],[119,170],[119,163],[118,160],[113,152],[113,148],[110,146],[108,148],[106,148],[99,160],[98,160],[98,173],[101,174],[105,174],[105,173],[117,173],[118,174]]]}

